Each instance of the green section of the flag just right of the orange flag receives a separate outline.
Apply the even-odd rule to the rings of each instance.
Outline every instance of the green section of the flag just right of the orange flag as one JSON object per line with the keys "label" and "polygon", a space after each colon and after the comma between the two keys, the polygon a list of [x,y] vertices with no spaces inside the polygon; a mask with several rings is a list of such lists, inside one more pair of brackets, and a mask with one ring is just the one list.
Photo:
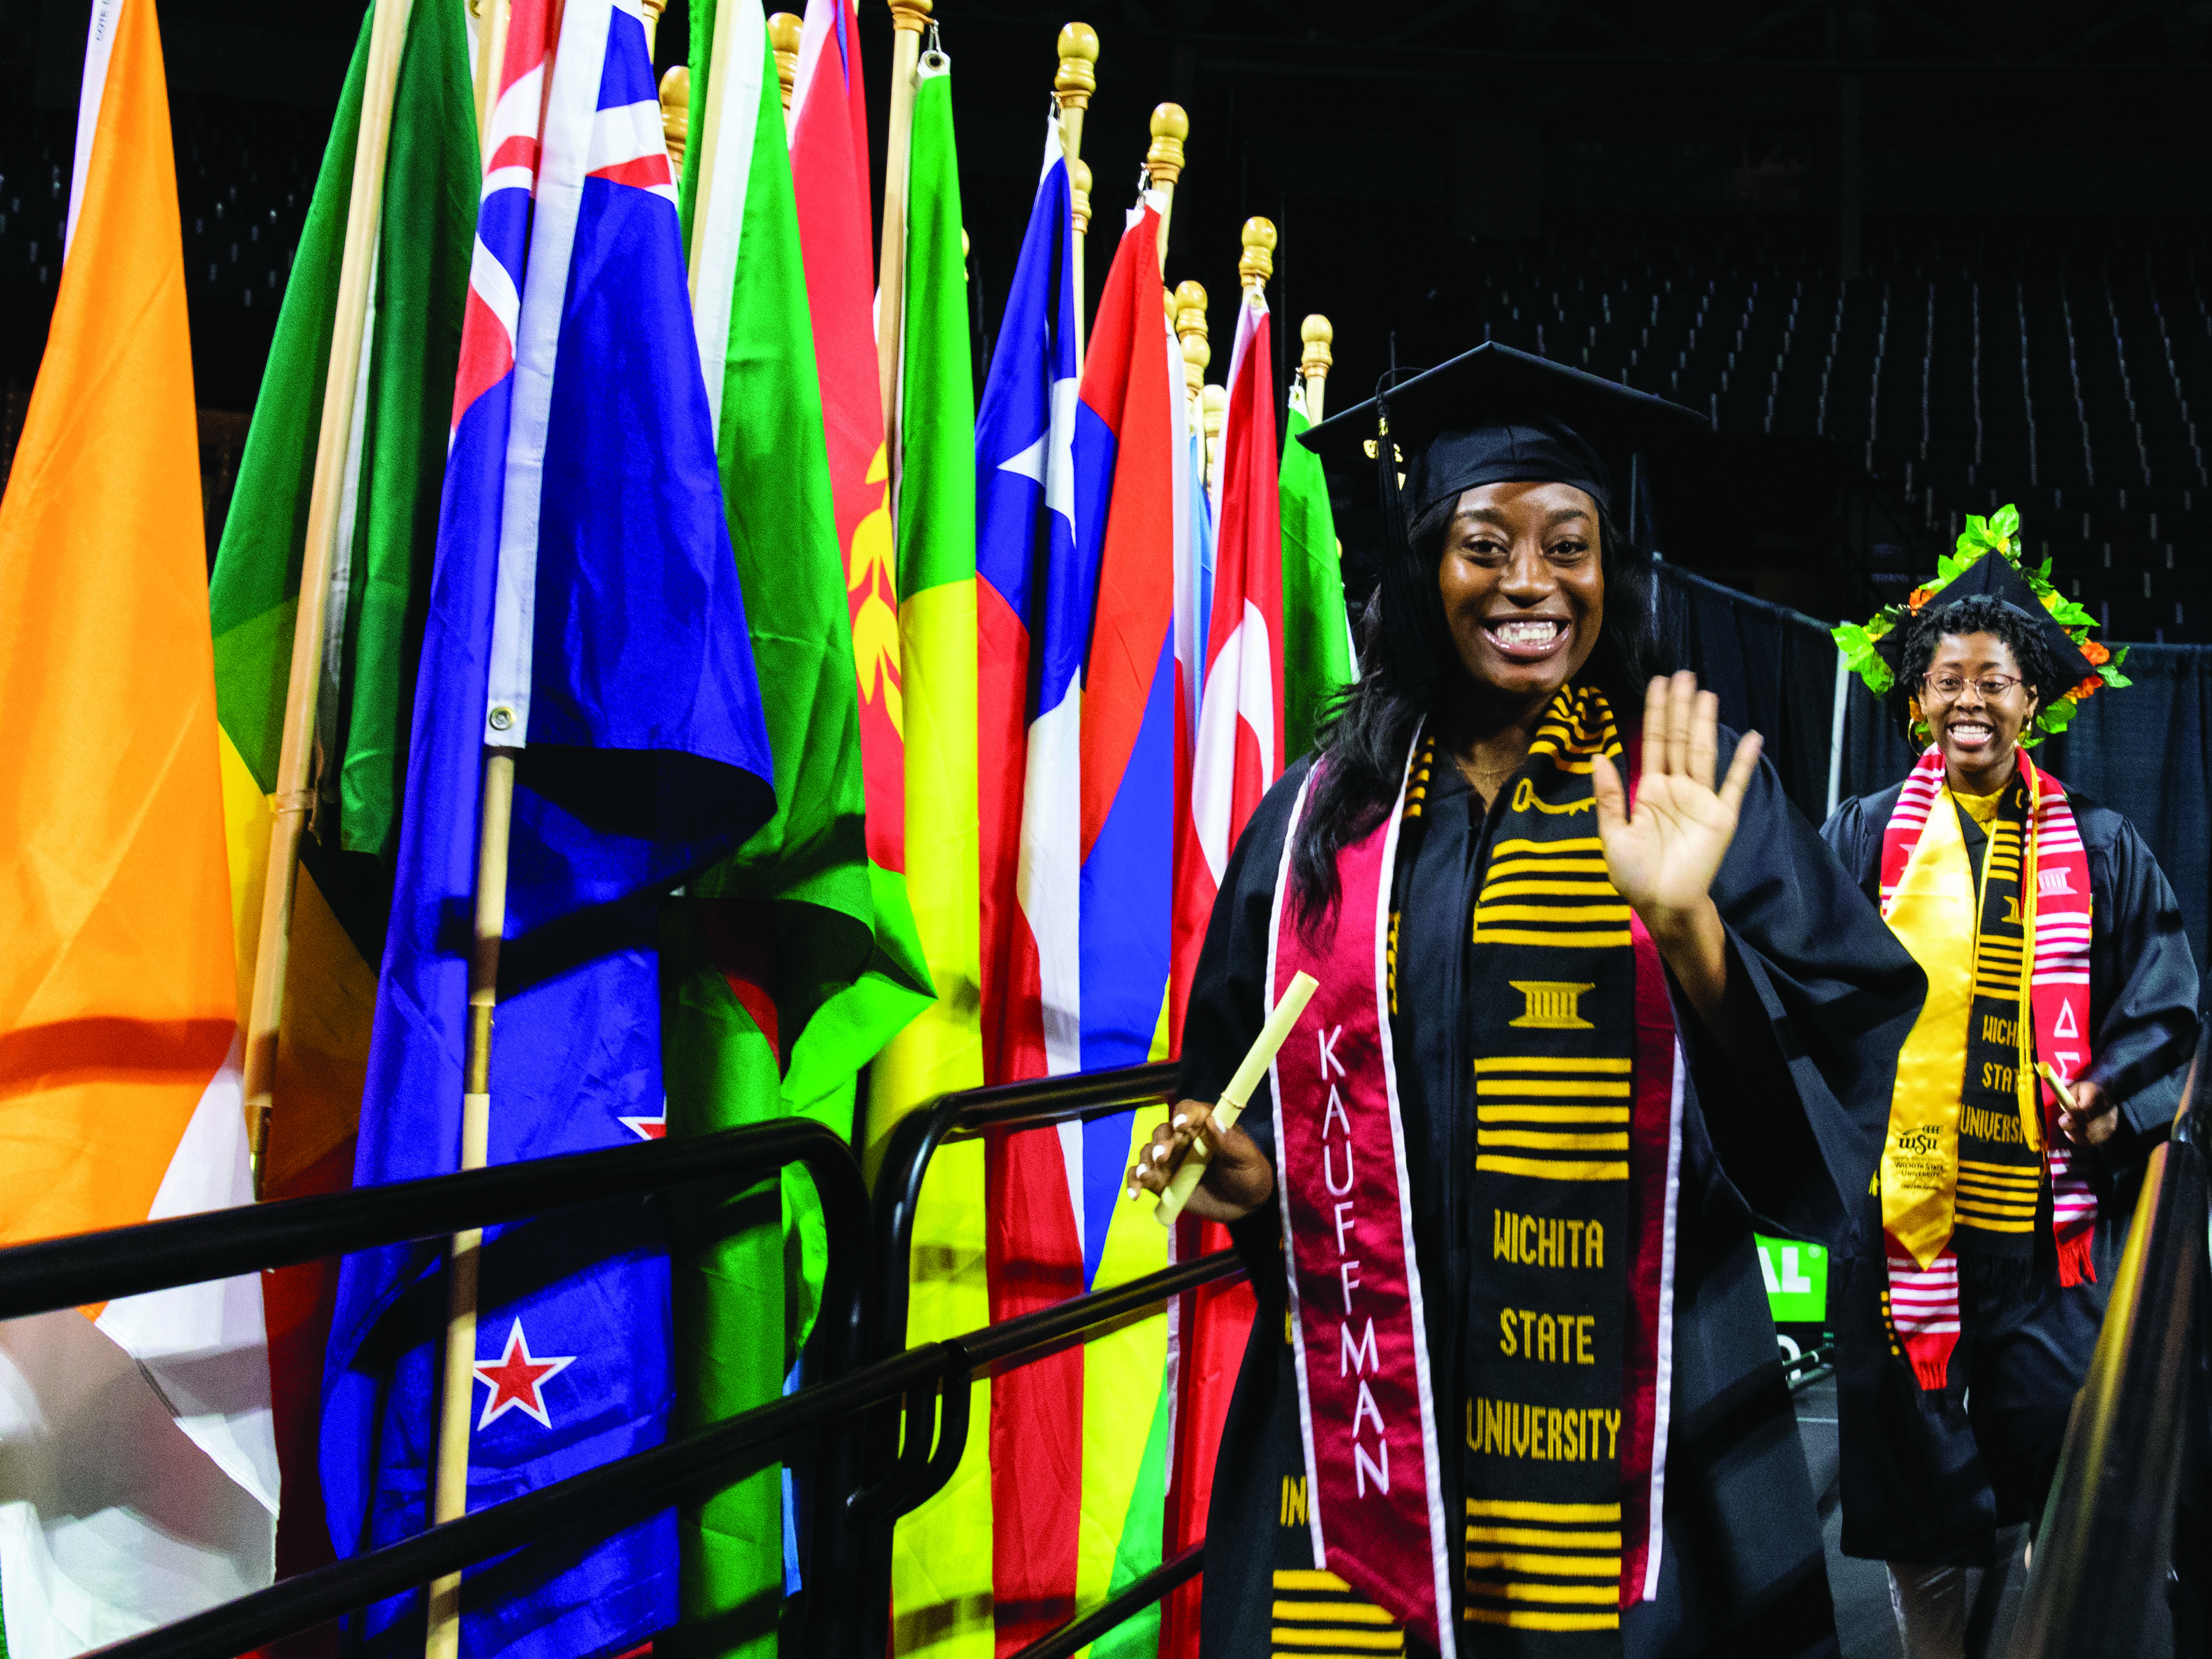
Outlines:
{"label": "green section of the flag just right of the orange flag", "polygon": [[[367,53],[363,18],[208,595],[217,710],[263,790],[276,783]],[[392,104],[316,703],[325,852],[385,856],[398,841],[480,184],[467,29],[456,7],[418,4]]]}

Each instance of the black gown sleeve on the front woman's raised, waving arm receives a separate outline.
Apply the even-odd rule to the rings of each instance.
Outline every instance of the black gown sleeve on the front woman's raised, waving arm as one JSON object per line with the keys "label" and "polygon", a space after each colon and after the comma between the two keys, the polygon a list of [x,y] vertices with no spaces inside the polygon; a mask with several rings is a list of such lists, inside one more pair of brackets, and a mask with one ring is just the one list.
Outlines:
{"label": "black gown sleeve on the front woman's raised, waving arm", "polygon": [[[1732,734],[1723,750],[1721,772]],[[1847,834],[1858,825],[1847,821]],[[1721,1170],[1754,1217],[1849,1250],[1927,978],[1765,759],[1712,898],[1730,998],[1745,998],[1730,1024],[1754,1033],[1750,1051],[1721,1053],[1694,1015],[1681,1020]]]}

